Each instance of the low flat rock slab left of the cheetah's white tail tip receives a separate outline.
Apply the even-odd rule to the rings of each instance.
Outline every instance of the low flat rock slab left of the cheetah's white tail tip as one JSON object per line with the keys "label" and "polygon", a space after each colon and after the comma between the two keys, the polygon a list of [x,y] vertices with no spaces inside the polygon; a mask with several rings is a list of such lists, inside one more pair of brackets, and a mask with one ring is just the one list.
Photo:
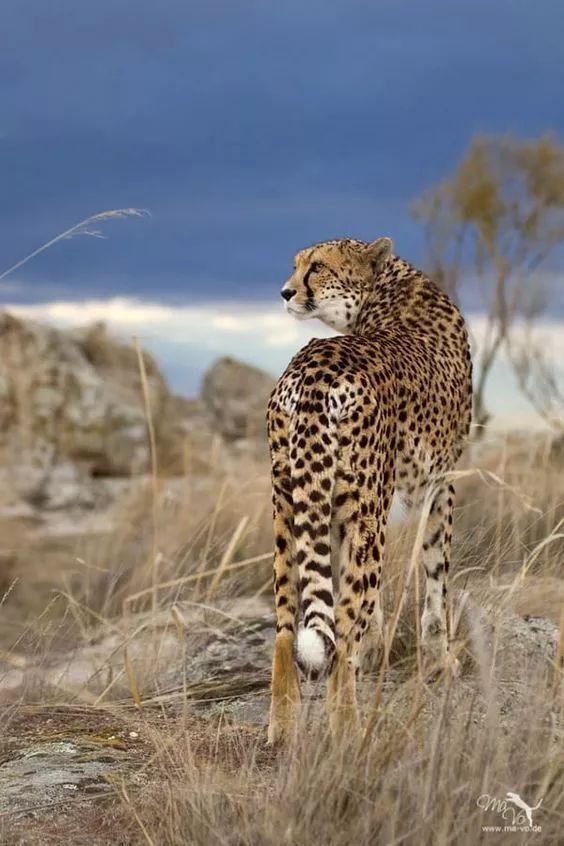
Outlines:
{"label": "low flat rock slab left of the cheetah's white tail tip", "polygon": [[273,603],[263,597],[238,597],[215,606],[178,602],[174,611],[135,614],[114,629],[100,627],[90,643],[37,662],[12,655],[0,673],[0,699],[20,696],[22,685],[28,691],[48,685],[92,702],[122,672],[125,644],[143,697],[157,688],[186,686],[189,698],[205,700],[210,683],[214,696],[215,685],[222,691],[245,690],[258,679],[260,687],[268,686],[275,629]]}

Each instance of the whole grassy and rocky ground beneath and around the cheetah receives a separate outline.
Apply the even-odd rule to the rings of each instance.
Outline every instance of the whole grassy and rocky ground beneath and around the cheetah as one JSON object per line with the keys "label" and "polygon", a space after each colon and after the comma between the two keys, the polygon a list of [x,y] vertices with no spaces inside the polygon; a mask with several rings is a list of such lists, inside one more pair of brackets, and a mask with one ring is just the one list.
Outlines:
{"label": "whole grassy and rocky ground beneath and around the cheetah", "polygon": [[393,527],[389,662],[380,649],[361,683],[365,733],[343,744],[326,736],[322,683],[304,688],[300,741],[265,744],[263,468],[231,475],[219,460],[205,485],[162,486],[156,517],[140,482],[105,533],[41,540],[20,525],[0,608],[1,842],[530,842],[483,828],[499,820],[478,798],[513,791],[542,798],[538,842],[557,843],[564,497],[538,455],[481,447],[466,468],[481,475],[457,483],[453,684],[422,680],[417,571],[404,592],[416,527]]}

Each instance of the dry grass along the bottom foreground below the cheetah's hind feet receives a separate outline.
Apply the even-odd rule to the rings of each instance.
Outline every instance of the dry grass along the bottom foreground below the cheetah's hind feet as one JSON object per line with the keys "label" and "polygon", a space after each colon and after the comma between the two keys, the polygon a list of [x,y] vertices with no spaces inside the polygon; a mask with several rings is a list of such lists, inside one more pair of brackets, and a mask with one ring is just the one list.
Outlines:
{"label": "dry grass along the bottom foreground below the cheetah's hind feet", "polygon": [[137,829],[133,842],[478,844],[488,842],[482,825],[497,820],[476,800],[486,792],[504,797],[511,785],[531,804],[544,797],[550,811],[541,842],[556,844],[564,760],[546,725],[549,714],[547,703],[534,699],[519,736],[503,736],[474,702],[461,707],[444,695],[432,720],[408,724],[383,714],[364,751],[314,727],[273,759],[263,738],[242,728],[210,727],[207,745],[190,730],[155,733],[160,778],[125,803]]}

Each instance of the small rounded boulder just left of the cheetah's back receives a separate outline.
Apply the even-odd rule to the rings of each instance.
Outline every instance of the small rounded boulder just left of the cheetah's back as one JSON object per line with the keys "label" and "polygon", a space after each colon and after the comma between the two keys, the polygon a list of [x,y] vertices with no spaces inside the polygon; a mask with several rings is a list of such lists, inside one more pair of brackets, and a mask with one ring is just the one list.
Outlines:
{"label": "small rounded boulder just left of the cheetah's back", "polygon": [[204,375],[202,400],[216,430],[228,441],[265,441],[266,406],[272,376],[235,361],[219,359]]}

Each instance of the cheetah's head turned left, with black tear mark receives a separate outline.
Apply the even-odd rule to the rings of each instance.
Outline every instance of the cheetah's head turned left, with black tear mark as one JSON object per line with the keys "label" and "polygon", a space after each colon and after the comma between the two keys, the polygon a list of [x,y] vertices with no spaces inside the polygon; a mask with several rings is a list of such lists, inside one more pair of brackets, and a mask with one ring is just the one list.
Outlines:
{"label": "cheetah's head turned left, with black tear mark", "polygon": [[392,248],[390,238],[370,244],[343,238],[301,250],[280,292],[286,311],[298,320],[318,317],[338,332],[351,331]]}

